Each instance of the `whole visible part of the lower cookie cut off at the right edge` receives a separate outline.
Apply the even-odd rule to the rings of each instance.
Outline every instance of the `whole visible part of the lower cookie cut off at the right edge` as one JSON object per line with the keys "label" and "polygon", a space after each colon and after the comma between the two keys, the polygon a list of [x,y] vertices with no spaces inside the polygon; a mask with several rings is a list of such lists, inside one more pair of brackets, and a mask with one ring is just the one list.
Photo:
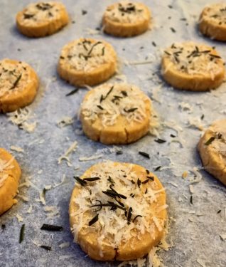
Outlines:
{"label": "whole visible part of the lower cookie cut off at the right edge", "polygon": [[226,185],[226,120],[215,121],[198,143],[205,169]]}

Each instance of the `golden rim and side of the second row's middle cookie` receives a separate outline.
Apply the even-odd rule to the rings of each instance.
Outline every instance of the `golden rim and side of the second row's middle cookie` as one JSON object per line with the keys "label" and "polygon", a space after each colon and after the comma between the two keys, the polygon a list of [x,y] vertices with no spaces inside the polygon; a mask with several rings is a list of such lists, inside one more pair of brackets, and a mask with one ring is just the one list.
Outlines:
{"label": "golden rim and side of the second row's middle cookie", "polygon": [[62,55],[67,55],[70,49],[77,43],[80,43],[82,40],[88,40],[91,43],[96,42],[91,38],[80,38],[79,40],[72,41],[64,46],[58,61],[58,73],[60,77],[68,81],[70,84],[80,87],[84,85],[97,85],[105,80],[108,80],[110,77],[112,77],[117,69],[117,56],[114,48],[105,41],[102,41],[102,43],[104,44],[106,50],[109,51],[112,58],[114,58],[114,61],[102,63],[92,70],[77,70],[76,68],[72,68],[71,64],[65,62],[65,60],[62,58]]}

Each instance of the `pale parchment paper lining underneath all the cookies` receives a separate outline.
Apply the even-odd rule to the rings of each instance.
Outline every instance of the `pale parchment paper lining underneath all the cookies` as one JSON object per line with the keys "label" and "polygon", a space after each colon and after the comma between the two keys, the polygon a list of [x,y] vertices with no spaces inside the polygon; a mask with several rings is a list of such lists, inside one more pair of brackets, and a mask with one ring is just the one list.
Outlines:
{"label": "pale parchment paper lining underneath all the cookies", "polygon": [[[46,192],[46,205],[57,206],[59,210],[59,216],[53,216],[52,219],[44,211],[45,206],[36,202],[39,198],[37,189],[20,189],[20,194],[29,201],[18,198],[18,204],[0,217],[0,224],[6,224],[6,229],[0,230],[0,266],[109,266],[109,263],[92,261],[85,256],[80,247],[72,242],[68,222],[68,204],[74,186],[72,176],[82,174],[91,164],[102,159],[141,164],[151,170],[162,167],[156,174],[166,187],[171,219],[168,242],[173,242],[170,251],[158,253],[165,266],[226,266],[226,243],[220,238],[226,233],[226,190],[205,171],[194,172],[194,167],[200,169],[201,166],[196,145],[202,132],[196,126],[191,126],[207,127],[213,120],[225,117],[225,83],[212,93],[181,92],[163,83],[159,75],[159,50],[175,41],[208,43],[216,46],[222,58],[226,59],[224,43],[203,38],[197,31],[198,15],[203,6],[211,1],[143,0],[151,8],[154,28],[134,38],[90,35],[87,28],[99,27],[105,7],[114,2],[108,0],[65,0],[63,3],[74,23],[53,36],[26,38],[16,31],[15,15],[30,2],[1,0],[0,55],[1,58],[15,58],[30,63],[41,78],[41,90],[30,106],[32,117],[29,121],[36,121],[37,127],[30,134],[18,130],[6,115],[0,115],[0,146],[10,150],[14,145],[25,151],[13,152],[23,170],[21,182],[31,177],[31,182],[42,191],[45,185],[60,183],[63,174],[66,179],[59,187]],[[82,10],[86,10],[87,14],[82,16]],[[181,20],[184,18],[186,21]],[[80,124],[76,120],[73,125],[62,129],[56,125],[63,116],[76,117],[86,93],[86,90],[79,90],[75,95],[65,97],[73,87],[56,74],[60,49],[65,43],[81,36],[103,38],[112,43],[121,61],[121,73],[126,75],[129,83],[139,85],[153,99],[162,125],[168,125],[161,131],[161,138],[167,140],[166,143],[158,144],[149,135],[134,144],[120,146],[123,155],[116,155],[107,146],[80,135]],[[145,60],[149,63],[127,64]],[[202,115],[205,115],[203,120],[200,119]],[[177,132],[171,127],[178,130],[178,138],[174,140],[180,142],[172,142],[171,134],[177,135]],[[75,140],[78,147],[70,159],[73,166],[79,167],[76,171],[68,167],[66,162],[59,165],[57,160]],[[151,159],[138,155],[138,151],[148,152]],[[103,155],[100,159],[89,162],[79,160],[80,157],[99,154]],[[181,178],[184,171],[188,171],[186,179]],[[200,182],[192,184],[193,204],[190,204],[190,179],[200,179]],[[33,211],[29,214],[27,211],[31,205]],[[18,222],[17,214],[23,217],[23,221]],[[64,230],[59,233],[41,231],[43,223],[62,225]],[[26,224],[25,239],[18,244],[22,224]],[[60,248],[59,245],[65,242],[69,242],[70,246]],[[45,251],[37,244],[51,246],[52,250]]]}

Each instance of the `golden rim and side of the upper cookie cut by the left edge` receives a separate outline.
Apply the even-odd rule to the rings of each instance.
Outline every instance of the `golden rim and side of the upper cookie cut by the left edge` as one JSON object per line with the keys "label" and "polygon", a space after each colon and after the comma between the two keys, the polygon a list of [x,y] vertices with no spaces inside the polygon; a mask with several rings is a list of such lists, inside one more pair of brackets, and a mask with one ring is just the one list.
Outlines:
{"label": "golden rim and side of the upper cookie cut by the left edge", "polygon": [[[15,65],[15,68],[20,64],[19,61],[11,59],[5,59],[4,62]],[[33,102],[38,91],[38,76],[28,64],[26,64],[26,73],[28,73],[28,82],[24,85],[23,90],[16,90],[14,93],[0,96],[0,112],[12,112]]]}

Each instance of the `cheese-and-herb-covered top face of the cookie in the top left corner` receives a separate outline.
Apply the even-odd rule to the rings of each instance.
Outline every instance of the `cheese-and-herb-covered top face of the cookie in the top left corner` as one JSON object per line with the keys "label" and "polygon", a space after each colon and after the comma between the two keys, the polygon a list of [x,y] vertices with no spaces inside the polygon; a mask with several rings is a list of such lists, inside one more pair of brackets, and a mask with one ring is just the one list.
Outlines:
{"label": "cheese-and-herb-covered top face of the cookie in the top left corner", "polygon": [[39,23],[60,19],[61,9],[64,9],[63,4],[54,1],[28,4],[26,9],[23,9],[23,24],[36,26]]}

